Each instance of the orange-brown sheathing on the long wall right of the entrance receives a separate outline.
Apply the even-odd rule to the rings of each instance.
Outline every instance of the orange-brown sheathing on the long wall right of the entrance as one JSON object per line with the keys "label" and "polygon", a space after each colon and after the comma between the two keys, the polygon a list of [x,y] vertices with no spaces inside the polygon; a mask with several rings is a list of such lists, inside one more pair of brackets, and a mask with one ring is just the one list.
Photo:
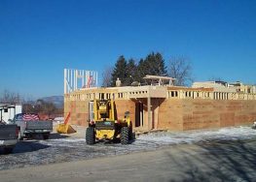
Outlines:
{"label": "orange-brown sheathing on the long wall right of the entrance", "polygon": [[174,131],[252,124],[256,101],[165,100],[159,128]]}

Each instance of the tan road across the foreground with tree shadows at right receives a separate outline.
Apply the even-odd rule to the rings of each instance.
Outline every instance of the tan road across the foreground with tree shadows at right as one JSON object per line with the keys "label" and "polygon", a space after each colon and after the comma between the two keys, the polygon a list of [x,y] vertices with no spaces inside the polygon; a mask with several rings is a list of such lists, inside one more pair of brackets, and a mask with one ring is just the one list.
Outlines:
{"label": "tan road across the foreground with tree shadows at right", "polygon": [[0,171],[1,181],[256,181],[256,138]]}

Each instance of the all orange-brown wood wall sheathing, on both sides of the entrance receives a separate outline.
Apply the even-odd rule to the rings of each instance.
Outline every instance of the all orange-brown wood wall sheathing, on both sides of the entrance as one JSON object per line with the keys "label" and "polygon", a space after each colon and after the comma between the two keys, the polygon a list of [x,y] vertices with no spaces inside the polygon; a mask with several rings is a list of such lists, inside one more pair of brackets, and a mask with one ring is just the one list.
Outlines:
{"label": "all orange-brown wood wall sheathing, on both sides of the entrance", "polygon": [[[118,118],[123,119],[125,112],[129,111],[132,125],[135,126],[135,102],[116,100],[115,103]],[[147,107],[144,109],[144,122],[147,122]],[[157,121],[153,127],[172,131],[239,126],[256,121],[256,101],[153,99],[152,109],[155,110],[154,121]],[[89,100],[65,101],[65,117],[69,111],[70,124],[88,126]]]}

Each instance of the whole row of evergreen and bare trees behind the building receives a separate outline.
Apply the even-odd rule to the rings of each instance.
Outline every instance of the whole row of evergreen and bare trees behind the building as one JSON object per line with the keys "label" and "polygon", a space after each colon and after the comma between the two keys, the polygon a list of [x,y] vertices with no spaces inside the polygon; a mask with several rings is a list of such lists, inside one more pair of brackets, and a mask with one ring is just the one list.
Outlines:
{"label": "whole row of evergreen and bare trees behind the building", "polygon": [[102,86],[115,86],[116,80],[122,81],[122,86],[129,86],[132,82],[146,84],[146,75],[170,76],[176,78],[175,85],[188,85],[193,81],[191,62],[185,57],[171,57],[165,65],[165,59],[160,52],[151,52],[145,58],[134,60],[119,56],[114,66],[105,68],[102,73]]}

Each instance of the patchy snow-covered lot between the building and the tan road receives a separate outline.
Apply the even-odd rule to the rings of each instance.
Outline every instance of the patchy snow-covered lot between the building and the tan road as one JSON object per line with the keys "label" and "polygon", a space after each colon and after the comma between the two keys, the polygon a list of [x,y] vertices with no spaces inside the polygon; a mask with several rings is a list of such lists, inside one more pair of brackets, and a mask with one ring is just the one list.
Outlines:
{"label": "patchy snow-covered lot between the building and the tan road", "polygon": [[256,139],[256,130],[250,127],[231,127],[219,130],[151,133],[137,136],[128,145],[113,142],[97,142],[94,145],[87,145],[85,138],[53,137],[54,135],[49,140],[33,139],[18,142],[13,154],[0,155],[0,169],[122,155],[184,143]]}

